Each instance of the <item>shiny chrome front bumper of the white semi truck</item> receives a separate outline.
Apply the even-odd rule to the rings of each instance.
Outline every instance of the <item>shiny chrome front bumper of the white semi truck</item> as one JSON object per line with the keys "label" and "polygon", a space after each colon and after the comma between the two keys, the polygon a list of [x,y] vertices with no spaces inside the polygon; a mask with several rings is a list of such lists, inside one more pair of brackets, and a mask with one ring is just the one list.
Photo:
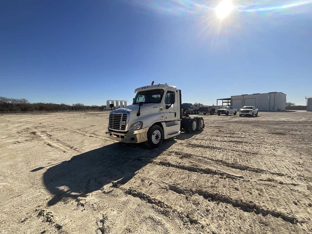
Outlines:
{"label": "shiny chrome front bumper of the white semi truck", "polygon": [[124,143],[140,143],[147,141],[147,131],[149,128],[128,131],[127,133],[114,132],[108,129],[108,137],[115,141],[120,141]]}

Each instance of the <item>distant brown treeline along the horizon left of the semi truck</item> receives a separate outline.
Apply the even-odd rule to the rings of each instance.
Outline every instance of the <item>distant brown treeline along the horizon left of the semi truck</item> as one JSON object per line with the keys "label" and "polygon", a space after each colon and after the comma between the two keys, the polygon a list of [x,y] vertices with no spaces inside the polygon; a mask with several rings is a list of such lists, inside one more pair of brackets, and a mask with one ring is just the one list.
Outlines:
{"label": "distant brown treeline along the horizon left of the semi truck", "polygon": [[106,110],[106,105],[85,106],[82,103],[72,105],[55,103],[29,103],[25,98],[0,97],[0,111],[58,111],[58,110]]}

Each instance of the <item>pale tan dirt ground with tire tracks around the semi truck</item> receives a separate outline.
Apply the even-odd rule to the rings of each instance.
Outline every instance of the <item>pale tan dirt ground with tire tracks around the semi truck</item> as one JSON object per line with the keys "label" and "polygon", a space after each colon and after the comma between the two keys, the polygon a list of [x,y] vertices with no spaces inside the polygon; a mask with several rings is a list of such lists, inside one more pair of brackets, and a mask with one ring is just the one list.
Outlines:
{"label": "pale tan dirt ground with tire tracks around the semi truck", "polygon": [[201,115],[158,149],[108,112],[0,116],[0,233],[312,233],[312,112]]}

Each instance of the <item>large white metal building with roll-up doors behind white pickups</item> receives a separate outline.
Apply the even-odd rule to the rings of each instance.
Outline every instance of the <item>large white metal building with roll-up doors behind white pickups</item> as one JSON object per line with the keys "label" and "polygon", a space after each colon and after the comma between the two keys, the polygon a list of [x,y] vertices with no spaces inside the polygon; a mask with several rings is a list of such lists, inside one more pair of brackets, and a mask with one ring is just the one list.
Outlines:
{"label": "large white metal building with roll-up doors behind white pickups", "polygon": [[285,110],[286,94],[269,92],[231,96],[231,106],[237,110],[243,106],[255,106],[259,111]]}

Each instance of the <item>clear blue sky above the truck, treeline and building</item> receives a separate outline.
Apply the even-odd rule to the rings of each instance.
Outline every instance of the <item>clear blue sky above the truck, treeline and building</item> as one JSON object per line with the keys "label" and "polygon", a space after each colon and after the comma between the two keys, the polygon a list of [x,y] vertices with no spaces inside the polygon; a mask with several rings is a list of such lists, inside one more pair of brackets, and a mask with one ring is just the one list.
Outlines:
{"label": "clear blue sky above the truck, treeline and building", "polygon": [[304,105],[312,2],[261,2],[221,21],[218,1],[1,1],[0,95],[102,105],[154,80],[183,102],[281,91]]}

